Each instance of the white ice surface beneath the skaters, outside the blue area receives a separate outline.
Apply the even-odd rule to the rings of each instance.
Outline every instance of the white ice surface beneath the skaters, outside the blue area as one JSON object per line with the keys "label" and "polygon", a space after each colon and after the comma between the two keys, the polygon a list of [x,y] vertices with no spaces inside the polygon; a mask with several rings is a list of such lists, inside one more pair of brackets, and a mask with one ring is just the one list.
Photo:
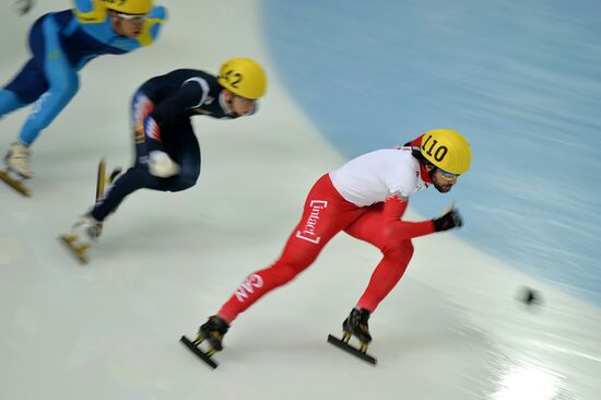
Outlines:
{"label": "white ice surface beneath the skaters, outside the blue area", "polygon": [[[33,21],[68,3],[39,1],[24,17],[0,4],[3,82],[28,57]],[[346,157],[283,83],[261,1],[160,3],[169,21],[155,45],[82,71],[80,93],[33,148],[33,197],[0,185],[0,399],[599,398],[599,306],[452,233],[414,240],[408,272],[370,319],[375,367],[326,342],[379,260],[343,234],[235,321],[217,369],[188,352],[180,336],[193,337],[249,272],[278,257],[313,183]],[[259,113],[196,117],[198,185],[133,193],[107,220],[92,261],[75,262],[57,237],[92,205],[101,157],[109,167],[131,162],[135,89],[177,68],[216,73],[239,56],[268,71]],[[1,152],[27,111],[0,121]],[[521,303],[523,287],[542,302]]]}

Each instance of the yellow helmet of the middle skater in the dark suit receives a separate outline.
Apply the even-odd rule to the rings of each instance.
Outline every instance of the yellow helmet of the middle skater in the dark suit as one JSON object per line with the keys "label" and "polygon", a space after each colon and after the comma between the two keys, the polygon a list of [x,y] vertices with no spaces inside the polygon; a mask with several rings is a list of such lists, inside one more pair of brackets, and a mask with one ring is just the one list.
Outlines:
{"label": "yellow helmet of the middle skater in the dark suit", "polygon": [[222,63],[217,82],[245,98],[260,98],[267,90],[266,72],[257,61],[249,58],[233,58]]}

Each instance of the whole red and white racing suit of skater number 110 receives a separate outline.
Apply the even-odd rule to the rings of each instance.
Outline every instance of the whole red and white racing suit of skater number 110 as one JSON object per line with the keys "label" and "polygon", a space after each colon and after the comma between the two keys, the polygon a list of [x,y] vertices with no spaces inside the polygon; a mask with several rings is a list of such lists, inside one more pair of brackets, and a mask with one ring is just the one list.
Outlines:
{"label": "whole red and white racing suit of skater number 110", "polygon": [[367,153],[323,175],[309,191],[300,222],[280,258],[248,275],[217,315],[234,321],[262,295],[310,266],[341,231],[373,244],[384,255],[356,305],[374,311],[403,275],[413,255],[411,238],[435,232],[432,220],[401,220],[409,197],[429,183],[411,148]]}

